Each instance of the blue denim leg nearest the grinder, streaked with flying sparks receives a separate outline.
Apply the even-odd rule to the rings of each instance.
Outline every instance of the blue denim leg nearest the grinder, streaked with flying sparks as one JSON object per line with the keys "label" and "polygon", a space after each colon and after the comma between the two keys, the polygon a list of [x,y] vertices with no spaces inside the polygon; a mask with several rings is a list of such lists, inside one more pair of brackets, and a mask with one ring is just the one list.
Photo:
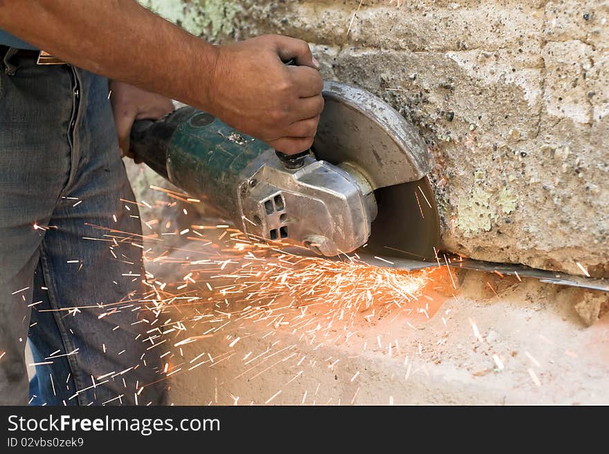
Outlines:
{"label": "blue denim leg nearest the grinder, streaked with flying sparks", "polygon": [[[82,93],[74,140],[78,169],[53,211],[57,229],[42,242],[41,278],[48,290],[30,330],[36,361],[60,350],[50,360],[62,376],[37,372],[39,390],[49,404],[162,404],[162,351],[147,350],[145,342],[154,316],[138,301],[141,225],[137,205],[129,202],[135,199],[120,159],[107,80],[76,72]],[[57,384],[53,389],[52,377],[61,381],[61,391]]]}

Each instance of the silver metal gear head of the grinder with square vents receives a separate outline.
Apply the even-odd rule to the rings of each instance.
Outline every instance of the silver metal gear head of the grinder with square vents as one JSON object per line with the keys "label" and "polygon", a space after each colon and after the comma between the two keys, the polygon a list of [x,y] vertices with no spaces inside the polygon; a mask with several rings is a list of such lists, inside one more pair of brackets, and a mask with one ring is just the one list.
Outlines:
{"label": "silver metal gear head of the grinder with square vents", "polygon": [[239,228],[254,238],[305,245],[335,256],[352,252],[370,236],[376,202],[370,185],[349,171],[308,156],[286,167],[273,150],[241,173]]}

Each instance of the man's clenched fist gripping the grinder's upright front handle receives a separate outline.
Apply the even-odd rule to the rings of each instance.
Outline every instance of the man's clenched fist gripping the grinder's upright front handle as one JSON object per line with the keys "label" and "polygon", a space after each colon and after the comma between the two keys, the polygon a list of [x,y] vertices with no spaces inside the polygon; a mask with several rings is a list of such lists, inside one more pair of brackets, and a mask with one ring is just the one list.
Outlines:
{"label": "man's clenched fist gripping the grinder's upright front handle", "polygon": [[[284,64],[291,59],[297,66]],[[210,111],[278,151],[300,153],[313,144],[324,106],[318,68],[300,39],[266,35],[220,46]]]}

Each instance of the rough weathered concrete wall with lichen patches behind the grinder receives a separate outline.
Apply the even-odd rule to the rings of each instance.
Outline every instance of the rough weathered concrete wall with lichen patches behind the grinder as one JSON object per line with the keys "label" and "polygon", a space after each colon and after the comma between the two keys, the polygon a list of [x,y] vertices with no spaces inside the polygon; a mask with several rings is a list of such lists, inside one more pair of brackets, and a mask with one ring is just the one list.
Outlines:
{"label": "rough weathered concrete wall with lichen patches behind the grinder", "polygon": [[609,0],[143,3],[215,41],[307,39],[390,102],[435,155],[446,248],[609,276]]}

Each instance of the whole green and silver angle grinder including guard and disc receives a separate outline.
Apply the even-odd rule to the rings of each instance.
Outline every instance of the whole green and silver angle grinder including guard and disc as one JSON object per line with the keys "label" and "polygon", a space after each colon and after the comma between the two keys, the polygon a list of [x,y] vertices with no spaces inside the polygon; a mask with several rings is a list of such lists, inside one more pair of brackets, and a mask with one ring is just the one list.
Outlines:
{"label": "whole green and silver angle grinder including guard and disc", "polygon": [[322,94],[311,152],[293,159],[189,106],[136,122],[131,151],[257,240],[433,260],[432,159],[417,130],[361,88],[326,82]]}

